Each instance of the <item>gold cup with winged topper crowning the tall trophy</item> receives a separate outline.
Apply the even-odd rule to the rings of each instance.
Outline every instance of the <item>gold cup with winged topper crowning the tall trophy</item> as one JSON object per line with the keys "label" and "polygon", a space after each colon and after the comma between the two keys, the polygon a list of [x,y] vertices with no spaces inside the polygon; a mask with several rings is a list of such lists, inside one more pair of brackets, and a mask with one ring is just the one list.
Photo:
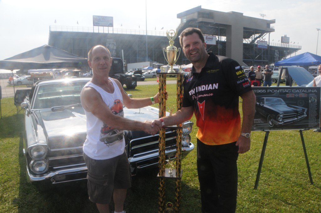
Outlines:
{"label": "gold cup with winged topper crowning the tall trophy", "polygon": [[[176,63],[180,55],[180,48],[177,48],[174,46],[174,39],[177,37],[177,33],[174,30],[166,31],[166,35],[167,35],[167,38],[169,39],[169,46],[166,47],[166,49],[163,48],[163,54],[164,54],[165,60],[170,66],[170,69],[168,72],[173,73],[175,72],[175,70],[173,69],[173,65]],[[165,56],[165,52],[167,57]],[[176,57],[177,52],[178,52],[178,56]]]}

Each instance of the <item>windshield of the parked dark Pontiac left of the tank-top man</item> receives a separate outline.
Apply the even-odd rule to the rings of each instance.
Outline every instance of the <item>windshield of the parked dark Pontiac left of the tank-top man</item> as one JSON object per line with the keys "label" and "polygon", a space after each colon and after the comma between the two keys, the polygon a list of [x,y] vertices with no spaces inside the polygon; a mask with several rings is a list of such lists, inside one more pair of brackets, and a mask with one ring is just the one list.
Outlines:
{"label": "windshield of the parked dark Pontiac left of the tank-top man", "polygon": [[86,82],[40,85],[33,109],[80,104],[80,92]]}

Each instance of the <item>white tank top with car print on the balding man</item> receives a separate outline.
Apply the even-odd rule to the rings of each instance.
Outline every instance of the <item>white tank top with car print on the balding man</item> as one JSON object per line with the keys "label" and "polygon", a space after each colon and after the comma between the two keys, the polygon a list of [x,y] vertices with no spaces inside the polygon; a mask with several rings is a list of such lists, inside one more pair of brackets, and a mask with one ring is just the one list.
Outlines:
{"label": "white tank top with car print on the balding man", "polygon": [[[101,98],[115,114],[124,117],[123,97],[116,82],[109,78],[114,86],[114,92],[108,93],[99,86],[88,82],[85,87],[96,89]],[[92,159],[104,160],[114,158],[124,153],[124,132],[108,127],[91,112],[85,110],[87,117],[87,137],[83,144],[83,152]]]}

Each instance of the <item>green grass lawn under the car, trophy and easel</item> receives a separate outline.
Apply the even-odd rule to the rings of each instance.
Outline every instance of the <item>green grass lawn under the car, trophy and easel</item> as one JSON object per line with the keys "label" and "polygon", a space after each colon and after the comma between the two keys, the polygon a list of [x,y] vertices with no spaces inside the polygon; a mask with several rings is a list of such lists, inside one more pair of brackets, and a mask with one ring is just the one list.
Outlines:
{"label": "green grass lawn under the car, trophy and easel", "polygon": [[[167,111],[173,108],[175,112],[176,85],[166,87],[169,93]],[[126,91],[133,98],[151,97],[158,91],[158,85],[137,86]],[[158,107],[158,104],[154,106]],[[23,112],[17,115],[13,98],[1,99],[1,111],[0,212],[98,212],[81,184],[39,192],[34,185],[27,183],[21,137]],[[195,122],[194,116],[192,121]],[[191,133],[194,144],[196,132],[194,125]],[[308,130],[303,131],[303,135],[314,184],[309,181],[299,131],[271,131],[258,189],[254,190],[265,132],[252,132],[251,150],[239,155],[238,159],[237,212],[321,212],[321,133]],[[196,150],[183,154],[182,169],[180,212],[201,212]],[[152,170],[133,177],[133,186],[128,190],[125,202],[127,213],[158,212],[159,179],[156,175],[157,171]],[[166,201],[175,203],[174,181],[166,180],[165,194]],[[112,205],[111,210],[114,210]]]}

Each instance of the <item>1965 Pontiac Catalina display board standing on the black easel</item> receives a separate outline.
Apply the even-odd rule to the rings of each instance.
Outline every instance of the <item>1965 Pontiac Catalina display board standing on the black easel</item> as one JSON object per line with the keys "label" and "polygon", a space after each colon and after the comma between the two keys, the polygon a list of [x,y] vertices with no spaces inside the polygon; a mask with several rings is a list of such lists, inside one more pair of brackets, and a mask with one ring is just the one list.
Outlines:
{"label": "1965 Pontiac Catalina display board standing on the black easel", "polygon": [[253,87],[252,131],[307,130],[320,126],[320,87]]}

